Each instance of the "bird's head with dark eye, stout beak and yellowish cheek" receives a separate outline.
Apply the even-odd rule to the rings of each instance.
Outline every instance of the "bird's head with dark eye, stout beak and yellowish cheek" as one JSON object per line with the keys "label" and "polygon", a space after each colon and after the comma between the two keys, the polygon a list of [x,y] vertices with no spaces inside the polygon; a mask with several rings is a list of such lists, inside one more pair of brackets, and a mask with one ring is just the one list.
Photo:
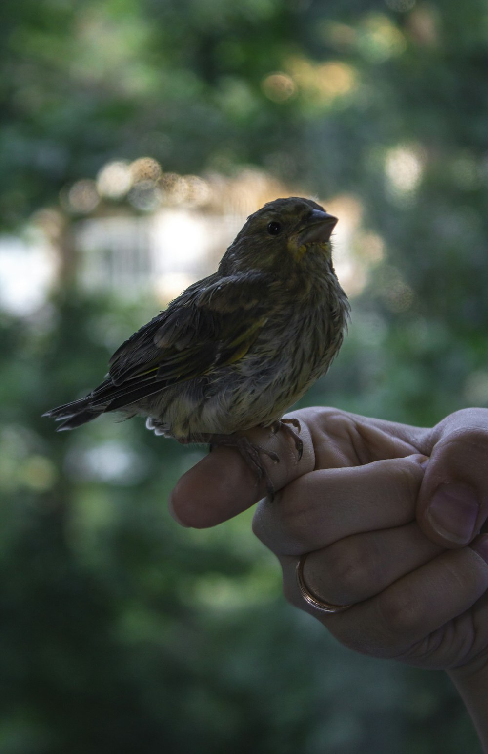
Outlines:
{"label": "bird's head with dark eye, stout beak and yellowish cheek", "polygon": [[311,199],[270,201],[250,215],[222,259],[231,271],[309,268],[331,261],[331,234],[337,217]]}

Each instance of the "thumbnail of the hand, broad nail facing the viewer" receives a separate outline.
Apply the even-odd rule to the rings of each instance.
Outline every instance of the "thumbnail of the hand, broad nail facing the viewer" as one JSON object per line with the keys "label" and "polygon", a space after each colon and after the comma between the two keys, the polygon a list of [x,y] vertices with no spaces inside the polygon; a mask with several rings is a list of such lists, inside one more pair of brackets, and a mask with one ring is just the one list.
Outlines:
{"label": "thumbnail of the hand, broad nail facing the viewer", "polygon": [[441,484],[427,509],[427,519],[438,534],[453,544],[467,544],[474,535],[480,504],[464,484]]}

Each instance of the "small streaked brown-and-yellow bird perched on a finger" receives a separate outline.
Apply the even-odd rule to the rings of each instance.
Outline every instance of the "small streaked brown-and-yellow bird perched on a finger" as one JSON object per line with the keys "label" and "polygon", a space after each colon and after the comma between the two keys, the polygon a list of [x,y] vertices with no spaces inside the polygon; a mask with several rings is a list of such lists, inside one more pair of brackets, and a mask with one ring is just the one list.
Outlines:
{"label": "small streaked brown-and-yellow bird perched on a finger", "polygon": [[215,273],[115,351],[97,388],[44,416],[67,430],[121,411],[180,443],[235,446],[273,496],[261,457],[279,458],[243,433],[285,431],[301,457],[300,423],[282,415],[327,372],[349,317],[332,265],[336,223],[310,199],[268,202]]}

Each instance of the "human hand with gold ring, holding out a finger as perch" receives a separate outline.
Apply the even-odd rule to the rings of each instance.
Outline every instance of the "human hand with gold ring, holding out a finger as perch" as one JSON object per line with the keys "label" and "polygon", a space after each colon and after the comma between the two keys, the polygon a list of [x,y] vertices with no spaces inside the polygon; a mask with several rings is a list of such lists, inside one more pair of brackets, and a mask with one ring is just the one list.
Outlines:
{"label": "human hand with gold ring, holding out a finger as perch", "polygon": [[[486,661],[488,535],[474,537],[488,515],[488,410],[433,429],[336,409],[294,415],[299,462],[285,434],[252,433],[281,458],[268,464],[280,492],[261,501],[254,528],[282,564],[287,598],[357,651],[423,667]],[[178,482],[172,510],[188,526],[214,526],[263,494],[239,454],[218,448]],[[349,609],[325,615],[304,602],[303,553],[310,590]]]}

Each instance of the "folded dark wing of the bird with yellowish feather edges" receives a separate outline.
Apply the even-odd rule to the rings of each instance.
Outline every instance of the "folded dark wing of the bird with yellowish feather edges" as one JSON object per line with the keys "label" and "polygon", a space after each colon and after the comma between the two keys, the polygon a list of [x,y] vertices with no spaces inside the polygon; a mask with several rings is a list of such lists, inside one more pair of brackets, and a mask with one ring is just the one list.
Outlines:
{"label": "folded dark wing of the bird with yellowish feather edges", "polygon": [[108,372],[113,385],[139,378],[163,388],[235,363],[249,351],[267,321],[272,280],[259,274],[207,281],[188,289],[120,346]]}

